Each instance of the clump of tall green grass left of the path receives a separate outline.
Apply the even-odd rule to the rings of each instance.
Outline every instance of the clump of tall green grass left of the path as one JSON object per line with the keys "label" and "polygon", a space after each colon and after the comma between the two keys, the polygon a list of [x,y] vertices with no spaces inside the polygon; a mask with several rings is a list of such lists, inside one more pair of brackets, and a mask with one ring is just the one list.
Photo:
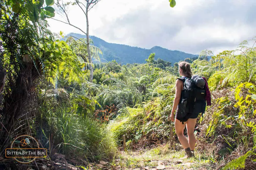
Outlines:
{"label": "clump of tall green grass left of the path", "polygon": [[116,152],[116,142],[105,124],[92,116],[80,116],[73,102],[45,101],[40,107],[42,134],[51,149],[87,160],[111,158]]}

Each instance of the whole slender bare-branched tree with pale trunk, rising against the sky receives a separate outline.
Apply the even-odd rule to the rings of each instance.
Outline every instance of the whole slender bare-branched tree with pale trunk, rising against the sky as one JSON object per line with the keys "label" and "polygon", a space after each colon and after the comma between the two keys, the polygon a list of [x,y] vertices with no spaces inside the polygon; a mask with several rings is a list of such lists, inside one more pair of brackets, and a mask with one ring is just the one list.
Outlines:
{"label": "whole slender bare-branched tree with pale trunk, rising against the sky", "polygon": [[[74,2],[70,3],[64,3],[63,0],[57,0],[56,5],[59,8],[60,15],[66,19],[66,21],[54,19],[66,24],[71,25],[74,28],[77,28],[78,30],[82,31],[86,35],[86,44],[87,44],[87,53],[88,53],[88,61],[89,61],[89,69],[90,69],[90,82],[92,82],[93,78],[93,67],[92,67],[92,52],[90,49],[90,42],[89,42],[89,19],[88,19],[88,12],[90,9],[94,7],[99,1],[101,0],[74,0]],[[68,6],[69,5],[78,5],[79,8],[82,10],[83,14],[86,17],[86,31],[82,30],[81,28],[77,27],[74,24],[71,24],[69,17],[68,17]]]}

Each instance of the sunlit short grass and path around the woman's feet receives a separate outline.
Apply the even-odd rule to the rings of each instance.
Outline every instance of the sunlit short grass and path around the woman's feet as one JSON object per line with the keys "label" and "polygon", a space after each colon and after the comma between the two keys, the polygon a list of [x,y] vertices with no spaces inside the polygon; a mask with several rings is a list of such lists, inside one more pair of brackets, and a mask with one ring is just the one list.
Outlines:
{"label": "sunlit short grass and path around the woman's feet", "polygon": [[126,152],[122,151],[116,156],[115,165],[122,169],[134,169],[139,167],[156,168],[160,163],[164,164],[166,169],[172,167],[177,169],[213,169],[210,167],[211,161],[208,159],[185,158],[185,151],[174,151],[168,148],[168,145],[159,146],[149,150],[138,150]]}

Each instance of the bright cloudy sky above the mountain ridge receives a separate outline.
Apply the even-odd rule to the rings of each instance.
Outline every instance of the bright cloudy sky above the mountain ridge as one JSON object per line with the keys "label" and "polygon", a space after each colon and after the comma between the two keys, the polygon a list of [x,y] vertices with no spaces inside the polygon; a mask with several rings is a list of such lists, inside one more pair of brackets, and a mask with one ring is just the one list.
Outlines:
{"label": "bright cloudy sky above the mountain ridge", "polygon": [[[101,0],[89,11],[89,35],[146,49],[161,46],[190,54],[208,49],[216,55],[256,36],[255,9],[255,0],[176,0],[174,8],[168,0]],[[71,24],[86,32],[81,9],[70,6],[68,11]],[[55,18],[65,21],[58,14]],[[52,32],[82,33],[53,19],[48,23]]]}

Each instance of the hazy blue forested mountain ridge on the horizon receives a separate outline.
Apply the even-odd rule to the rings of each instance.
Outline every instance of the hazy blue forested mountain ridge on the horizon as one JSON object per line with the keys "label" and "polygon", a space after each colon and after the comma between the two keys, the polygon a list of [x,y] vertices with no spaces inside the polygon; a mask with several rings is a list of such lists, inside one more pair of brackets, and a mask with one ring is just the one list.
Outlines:
{"label": "hazy blue forested mountain ridge on the horizon", "polygon": [[[77,38],[86,38],[85,35],[70,33],[67,36],[74,36]],[[168,50],[159,46],[154,46],[151,49],[131,47],[129,45],[108,43],[104,40],[90,36],[93,41],[93,45],[97,46],[102,51],[101,62],[116,60],[118,63],[145,63],[145,59],[151,53],[155,53],[155,60],[161,58],[165,61],[170,61],[172,64],[184,60],[185,58],[198,57],[198,55],[187,54],[182,51]]]}

